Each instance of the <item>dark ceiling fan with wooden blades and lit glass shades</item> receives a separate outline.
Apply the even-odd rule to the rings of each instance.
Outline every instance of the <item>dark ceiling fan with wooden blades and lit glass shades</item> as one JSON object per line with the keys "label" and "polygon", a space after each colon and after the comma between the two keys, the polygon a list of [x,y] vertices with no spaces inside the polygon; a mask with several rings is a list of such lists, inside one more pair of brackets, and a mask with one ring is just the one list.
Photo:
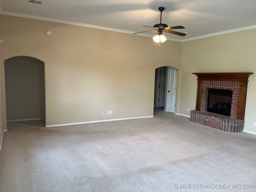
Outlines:
{"label": "dark ceiling fan with wooden blades and lit glass shades", "polygon": [[[175,34],[175,35],[179,35],[179,36],[185,36],[186,33],[180,33],[180,32],[177,32],[177,31],[172,31],[172,29],[184,29],[183,26],[173,26],[173,27],[168,27],[167,24],[163,24],[162,23],[162,11],[164,10],[164,7],[159,7],[158,8],[159,11],[161,12],[161,17],[160,17],[160,23],[159,24],[155,24],[153,27],[151,26],[144,26],[144,27],[150,27],[150,28],[153,28],[154,30],[149,30],[149,31],[143,31],[143,32],[138,32],[138,33],[144,33],[144,32],[150,32],[150,31],[157,31],[156,32],[156,36],[153,37],[153,40],[155,42],[165,42],[166,41],[166,38],[163,36],[163,31],[166,32],[166,33],[172,33],[172,34]],[[138,33],[133,33],[134,34],[138,34]],[[160,45],[160,44],[159,44]]]}

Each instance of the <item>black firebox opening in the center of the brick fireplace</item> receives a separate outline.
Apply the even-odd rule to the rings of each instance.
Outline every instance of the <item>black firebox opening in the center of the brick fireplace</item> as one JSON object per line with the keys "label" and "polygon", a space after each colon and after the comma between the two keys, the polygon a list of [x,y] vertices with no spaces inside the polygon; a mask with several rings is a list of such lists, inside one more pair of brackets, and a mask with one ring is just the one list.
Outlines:
{"label": "black firebox opening in the center of the brick fireplace", "polygon": [[230,117],[232,90],[208,88],[207,112]]}

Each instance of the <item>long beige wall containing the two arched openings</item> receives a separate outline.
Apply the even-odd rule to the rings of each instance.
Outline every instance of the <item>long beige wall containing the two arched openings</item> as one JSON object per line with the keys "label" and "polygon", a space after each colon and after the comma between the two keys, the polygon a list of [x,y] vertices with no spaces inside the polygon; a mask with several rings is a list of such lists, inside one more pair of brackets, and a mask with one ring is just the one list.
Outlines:
{"label": "long beige wall containing the two arched openings", "polygon": [[45,63],[46,125],[152,116],[155,69],[180,69],[181,42],[4,15],[0,26],[1,69],[14,56]]}

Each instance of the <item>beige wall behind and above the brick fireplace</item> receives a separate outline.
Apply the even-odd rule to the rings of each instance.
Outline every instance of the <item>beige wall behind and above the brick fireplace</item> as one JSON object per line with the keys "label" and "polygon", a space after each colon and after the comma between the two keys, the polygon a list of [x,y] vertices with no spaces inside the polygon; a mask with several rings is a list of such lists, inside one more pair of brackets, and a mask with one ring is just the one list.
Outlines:
{"label": "beige wall behind and above the brick fireplace", "polygon": [[179,113],[196,108],[197,76],[192,72],[254,72],[249,77],[244,130],[256,133],[256,30],[182,43]]}

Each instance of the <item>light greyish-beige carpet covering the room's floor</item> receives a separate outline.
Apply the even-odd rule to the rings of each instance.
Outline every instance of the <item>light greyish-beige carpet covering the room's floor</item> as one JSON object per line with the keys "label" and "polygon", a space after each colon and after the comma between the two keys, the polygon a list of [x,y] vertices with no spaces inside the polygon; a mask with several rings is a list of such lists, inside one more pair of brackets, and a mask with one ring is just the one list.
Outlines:
{"label": "light greyish-beige carpet covering the room's floor", "polygon": [[161,108],[154,118],[54,128],[12,122],[0,154],[0,191],[254,192],[256,135]]}

